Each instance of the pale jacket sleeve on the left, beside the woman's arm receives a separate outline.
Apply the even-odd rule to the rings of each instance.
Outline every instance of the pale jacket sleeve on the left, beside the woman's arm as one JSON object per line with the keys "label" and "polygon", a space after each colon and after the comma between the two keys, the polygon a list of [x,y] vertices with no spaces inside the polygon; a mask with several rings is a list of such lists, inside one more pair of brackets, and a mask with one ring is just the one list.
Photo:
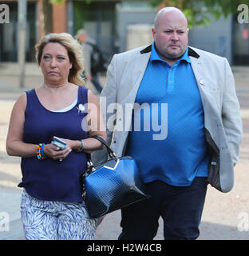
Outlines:
{"label": "pale jacket sleeve on the left, beside the woman's arm", "polygon": [[[106,74],[105,86],[100,95],[100,106],[103,114],[105,129],[107,134],[107,143],[111,145],[113,138],[113,129],[116,123],[116,114],[108,111],[112,104],[117,104],[117,55],[113,56],[113,59],[109,65]],[[111,113],[109,113],[111,112]],[[93,164],[105,162],[108,158],[107,150],[97,150],[91,154]]]}

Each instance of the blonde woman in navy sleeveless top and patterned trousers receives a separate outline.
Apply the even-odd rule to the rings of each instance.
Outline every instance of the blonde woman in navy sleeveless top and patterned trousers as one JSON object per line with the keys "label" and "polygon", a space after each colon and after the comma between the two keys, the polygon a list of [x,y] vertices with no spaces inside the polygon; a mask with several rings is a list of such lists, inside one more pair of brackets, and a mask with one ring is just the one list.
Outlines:
{"label": "blonde woman in navy sleeveless top and patterned trousers", "polygon": [[[44,83],[18,98],[6,140],[7,153],[22,157],[26,239],[93,239],[97,220],[82,202],[81,174],[85,153],[102,148],[89,137],[106,139],[101,110],[83,87],[81,46],[70,34],[48,34],[35,48]],[[53,136],[65,149],[51,142]]]}

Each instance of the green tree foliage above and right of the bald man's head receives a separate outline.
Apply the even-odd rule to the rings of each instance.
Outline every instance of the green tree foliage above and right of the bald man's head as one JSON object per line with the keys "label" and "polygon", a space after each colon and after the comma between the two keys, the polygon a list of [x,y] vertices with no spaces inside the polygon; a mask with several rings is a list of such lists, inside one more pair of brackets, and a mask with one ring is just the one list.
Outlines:
{"label": "green tree foliage above and right of the bald man's head", "polygon": [[190,27],[208,25],[210,14],[215,18],[227,18],[228,14],[238,14],[240,4],[249,5],[249,0],[152,0],[152,6],[175,6],[183,10]]}

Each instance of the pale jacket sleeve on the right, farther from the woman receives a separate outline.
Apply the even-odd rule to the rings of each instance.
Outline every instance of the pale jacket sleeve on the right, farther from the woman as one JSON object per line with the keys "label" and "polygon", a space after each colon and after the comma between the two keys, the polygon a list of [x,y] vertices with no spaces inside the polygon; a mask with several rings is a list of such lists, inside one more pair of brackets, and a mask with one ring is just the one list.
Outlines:
{"label": "pale jacket sleeve on the right, farther from the woman", "polygon": [[235,79],[227,59],[223,59],[225,85],[223,89],[222,120],[231,159],[235,166],[239,159],[239,144],[242,141],[243,126],[239,101],[235,91]]}

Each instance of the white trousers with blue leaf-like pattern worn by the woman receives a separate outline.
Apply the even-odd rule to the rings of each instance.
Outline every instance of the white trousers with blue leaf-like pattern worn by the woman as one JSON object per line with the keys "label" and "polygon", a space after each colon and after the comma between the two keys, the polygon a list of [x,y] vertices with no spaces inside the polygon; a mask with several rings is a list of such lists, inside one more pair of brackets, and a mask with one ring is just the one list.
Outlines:
{"label": "white trousers with blue leaf-like pattern worn by the woman", "polygon": [[97,219],[85,203],[42,201],[23,190],[21,214],[27,240],[93,240]]}

